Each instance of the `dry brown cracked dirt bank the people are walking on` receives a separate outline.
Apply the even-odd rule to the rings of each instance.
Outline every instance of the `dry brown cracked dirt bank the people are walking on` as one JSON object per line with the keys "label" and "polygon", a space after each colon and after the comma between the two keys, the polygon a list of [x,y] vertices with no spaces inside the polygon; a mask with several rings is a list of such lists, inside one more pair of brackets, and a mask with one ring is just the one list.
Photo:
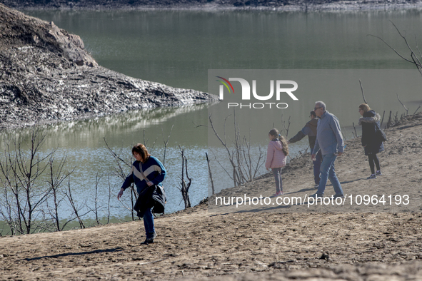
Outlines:
{"label": "dry brown cracked dirt bank the people are walking on", "polygon": [[[345,193],[421,188],[422,114],[409,119],[386,131],[384,175],[376,180],[363,179],[369,169],[358,140],[347,142],[336,164]],[[284,196],[313,193],[304,188],[312,185],[308,155],[292,160],[283,180]],[[267,196],[273,189],[266,177],[241,192]],[[232,207],[213,213],[203,204],[158,218],[151,245],[141,245],[139,221],[0,237],[0,280],[422,280],[420,209],[286,213]]]}

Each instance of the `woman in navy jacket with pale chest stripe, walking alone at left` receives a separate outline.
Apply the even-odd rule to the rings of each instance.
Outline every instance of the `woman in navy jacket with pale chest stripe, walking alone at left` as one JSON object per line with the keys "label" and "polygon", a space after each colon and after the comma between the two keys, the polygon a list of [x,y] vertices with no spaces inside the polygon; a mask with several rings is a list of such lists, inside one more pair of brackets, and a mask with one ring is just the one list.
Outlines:
{"label": "woman in navy jacket with pale chest stripe, walking alone at left", "polygon": [[[126,188],[129,188],[132,183],[135,183],[136,190],[141,196],[146,188],[152,185],[162,185],[162,181],[166,178],[166,168],[164,165],[148,153],[145,145],[138,143],[132,148],[132,154],[136,161],[132,164],[131,173],[124,180],[117,199],[121,198]],[[147,208],[144,213],[144,226],[146,232],[146,240],[142,244],[153,243],[156,237],[154,229],[154,217],[151,208]]]}

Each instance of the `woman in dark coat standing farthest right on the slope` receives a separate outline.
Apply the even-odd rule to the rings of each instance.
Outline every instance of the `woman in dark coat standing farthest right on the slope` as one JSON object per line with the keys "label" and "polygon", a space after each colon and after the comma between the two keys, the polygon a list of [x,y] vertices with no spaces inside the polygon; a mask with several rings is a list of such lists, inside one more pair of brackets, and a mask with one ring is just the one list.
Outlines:
{"label": "woman in dark coat standing farthest right on the slope", "polygon": [[[373,111],[366,103],[359,106],[359,125],[362,125],[362,146],[365,148],[365,155],[368,155],[369,168],[371,168],[371,175],[369,179],[376,178],[377,175],[382,175],[379,165],[379,159],[376,153],[384,150],[383,141],[377,138],[377,131],[381,130],[379,121],[381,117],[378,113]],[[375,170],[376,166],[376,170]]]}

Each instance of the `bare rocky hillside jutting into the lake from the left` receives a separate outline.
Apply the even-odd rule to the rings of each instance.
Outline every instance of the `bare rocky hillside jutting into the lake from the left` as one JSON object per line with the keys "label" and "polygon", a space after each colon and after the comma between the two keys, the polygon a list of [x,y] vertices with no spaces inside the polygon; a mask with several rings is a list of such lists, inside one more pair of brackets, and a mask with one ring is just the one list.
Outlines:
{"label": "bare rocky hillside jutting into the lake from the left", "polygon": [[213,100],[98,66],[79,36],[0,4],[0,128]]}

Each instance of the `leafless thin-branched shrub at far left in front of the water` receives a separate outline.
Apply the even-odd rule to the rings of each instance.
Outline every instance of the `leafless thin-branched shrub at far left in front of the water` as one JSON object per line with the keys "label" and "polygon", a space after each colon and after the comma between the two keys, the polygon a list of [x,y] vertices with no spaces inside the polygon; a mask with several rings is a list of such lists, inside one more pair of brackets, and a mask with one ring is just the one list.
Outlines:
{"label": "leafless thin-branched shrub at far left in front of the water", "polygon": [[[9,225],[12,235],[63,230],[68,223],[79,219],[84,223],[71,197],[70,174],[65,172],[66,156],[54,160],[56,150],[42,153],[45,136],[34,128],[26,143],[22,138],[5,142],[0,160],[0,215]],[[69,180],[69,190],[64,180]],[[64,220],[59,215],[60,205],[68,198],[75,217]]]}

